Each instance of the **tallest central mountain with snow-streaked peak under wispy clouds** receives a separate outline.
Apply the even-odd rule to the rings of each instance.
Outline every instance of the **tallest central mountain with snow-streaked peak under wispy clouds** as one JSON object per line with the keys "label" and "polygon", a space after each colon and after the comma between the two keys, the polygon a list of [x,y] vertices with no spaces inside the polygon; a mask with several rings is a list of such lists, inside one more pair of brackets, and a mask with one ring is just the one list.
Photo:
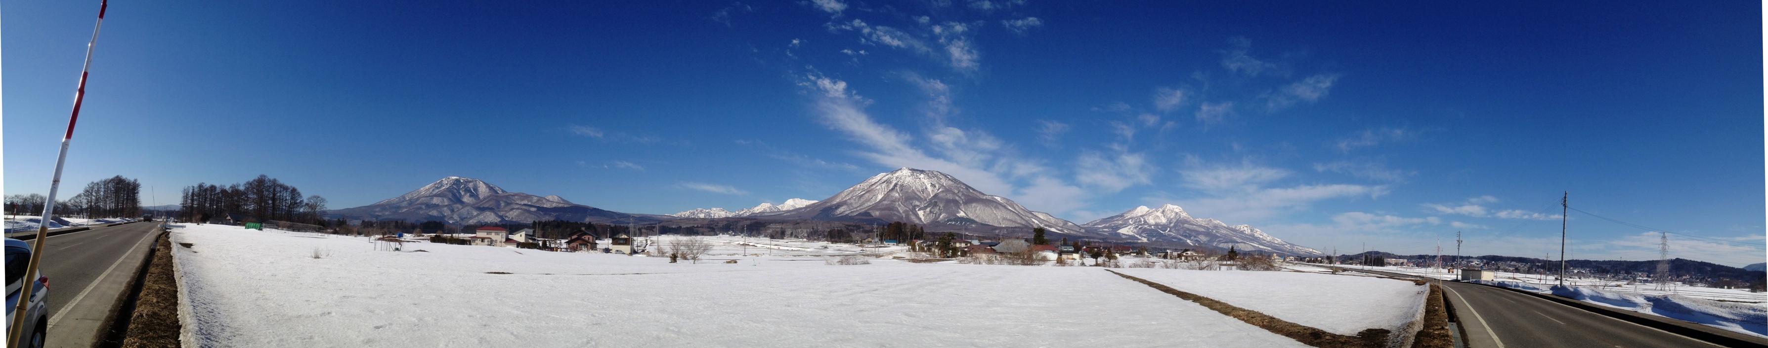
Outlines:
{"label": "tallest central mountain with snow-streaked peak under wispy clouds", "polygon": [[[780,207],[789,207],[790,203],[787,201],[787,205]],[[930,228],[937,224],[965,224],[1047,228],[1063,233],[1082,231],[1075,223],[1027,210],[1013,203],[1013,200],[983,194],[951,175],[911,168],[873,175],[822,201],[778,212],[757,212],[751,217],[903,221]]]}

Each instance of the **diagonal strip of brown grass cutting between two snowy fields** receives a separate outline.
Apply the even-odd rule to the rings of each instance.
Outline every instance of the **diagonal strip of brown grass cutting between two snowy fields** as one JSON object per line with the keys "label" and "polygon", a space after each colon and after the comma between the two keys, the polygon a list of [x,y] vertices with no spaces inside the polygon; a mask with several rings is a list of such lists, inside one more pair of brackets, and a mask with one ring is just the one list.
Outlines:
{"label": "diagonal strip of brown grass cutting between two snowy fields", "polygon": [[1271,334],[1278,334],[1278,336],[1284,336],[1284,337],[1296,339],[1301,344],[1322,346],[1322,348],[1363,348],[1363,346],[1386,346],[1388,344],[1390,332],[1386,329],[1368,329],[1368,330],[1358,332],[1356,336],[1333,334],[1333,332],[1326,332],[1326,330],[1321,330],[1321,329],[1314,329],[1314,327],[1307,327],[1307,325],[1299,325],[1299,323],[1284,322],[1284,320],[1278,320],[1275,316],[1268,316],[1264,313],[1257,313],[1257,311],[1252,311],[1252,309],[1234,307],[1232,304],[1225,304],[1225,302],[1220,302],[1220,300],[1215,300],[1215,299],[1209,299],[1209,297],[1199,297],[1195,293],[1179,291],[1179,290],[1174,290],[1172,286],[1165,286],[1165,284],[1153,283],[1153,281],[1147,281],[1147,279],[1133,277],[1133,276],[1128,276],[1128,274],[1119,274],[1119,272],[1114,272],[1114,270],[1105,270],[1105,272],[1112,272],[1112,274],[1117,274],[1117,276],[1126,277],[1130,281],[1137,281],[1137,283],[1147,284],[1149,288],[1160,290],[1163,293],[1172,293],[1174,297],[1202,304],[1204,307],[1208,307],[1211,311],[1222,313],[1225,316],[1232,316],[1232,318],[1236,318],[1239,322],[1252,323],[1254,327],[1269,330]]}

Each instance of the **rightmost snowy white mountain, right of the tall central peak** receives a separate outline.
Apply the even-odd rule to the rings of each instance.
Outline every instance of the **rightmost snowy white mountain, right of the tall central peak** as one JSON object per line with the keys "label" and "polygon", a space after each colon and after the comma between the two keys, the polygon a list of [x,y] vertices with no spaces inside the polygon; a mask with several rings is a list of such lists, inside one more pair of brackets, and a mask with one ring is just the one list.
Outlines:
{"label": "rightmost snowy white mountain, right of the tall central peak", "polygon": [[1139,242],[1181,242],[1190,246],[1236,247],[1276,254],[1321,254],[1315,249],[1289,244],[1246,224],[1227,226],[1216,219],[1197,219],[1177,205],[1160,208],[1135,207],[1128,212],[1080,224],[1091,235]]}

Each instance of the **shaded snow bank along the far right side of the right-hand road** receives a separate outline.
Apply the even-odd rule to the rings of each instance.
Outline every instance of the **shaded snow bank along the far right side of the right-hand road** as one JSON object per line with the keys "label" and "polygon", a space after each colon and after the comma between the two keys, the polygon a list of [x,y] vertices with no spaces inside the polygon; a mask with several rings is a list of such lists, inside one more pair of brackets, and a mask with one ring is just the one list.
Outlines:
{"label": "shaded snow bank along the far right side of the right-hand road", "polygon": [[1680,295],[1641,295],[1565,286],[1554,286],[1552,295],[1597,306],[1703,323],[1756,337],[1768,337],[1768,309],[1763,309],[1761,306],[1727,304]]}

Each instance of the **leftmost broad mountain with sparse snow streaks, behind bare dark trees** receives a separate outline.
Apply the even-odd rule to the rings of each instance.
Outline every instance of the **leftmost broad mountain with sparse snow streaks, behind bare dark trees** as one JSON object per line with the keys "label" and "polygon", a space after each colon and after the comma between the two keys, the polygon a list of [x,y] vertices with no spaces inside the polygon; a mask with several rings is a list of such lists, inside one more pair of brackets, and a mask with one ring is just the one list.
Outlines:
{"label": "leftmost broad mountain with sparse snow streaks, behind bare dark trees", "polygon": [[509,193],[477,178],[446,177],[373,205],[327,210],[329,217],[499,224],[532,221],[654,223],[658,216],[610,212],[560,196]]}

